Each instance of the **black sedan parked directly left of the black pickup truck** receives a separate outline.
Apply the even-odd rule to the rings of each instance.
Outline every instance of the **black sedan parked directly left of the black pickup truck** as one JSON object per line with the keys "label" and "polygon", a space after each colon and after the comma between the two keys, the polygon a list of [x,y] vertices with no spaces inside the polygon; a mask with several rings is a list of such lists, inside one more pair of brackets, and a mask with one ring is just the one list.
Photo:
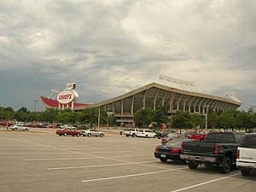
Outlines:
{"label": "black sedan parked directly left of the black pickup truck", "polygon": [[189,138],[175,138],[170,142],[167,142],[165,145],[159,145],[154,150],[154,157],[160,159],[162,162],[167,160],[181,160],[185,163],[185,160],[180,158],[181,146],[184,141],[188,142],[197,142],[195,139]]}

